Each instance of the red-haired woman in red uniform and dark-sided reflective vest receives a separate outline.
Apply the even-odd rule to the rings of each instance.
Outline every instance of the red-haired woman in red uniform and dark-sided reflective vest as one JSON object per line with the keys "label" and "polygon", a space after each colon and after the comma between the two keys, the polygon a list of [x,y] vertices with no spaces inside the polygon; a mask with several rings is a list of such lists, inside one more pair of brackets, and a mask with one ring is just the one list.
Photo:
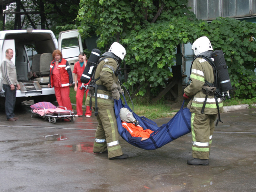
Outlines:
{"label": "red-haired woman in red uniform and dark-sided reflective vest", "polygon": [[48,87],[54,87],[58,105],[66,107],[73,112],[69,98],[69,86],[73,83],[70,66],[68,61],[62,58],[60,50],[54,50],[52,58]]}

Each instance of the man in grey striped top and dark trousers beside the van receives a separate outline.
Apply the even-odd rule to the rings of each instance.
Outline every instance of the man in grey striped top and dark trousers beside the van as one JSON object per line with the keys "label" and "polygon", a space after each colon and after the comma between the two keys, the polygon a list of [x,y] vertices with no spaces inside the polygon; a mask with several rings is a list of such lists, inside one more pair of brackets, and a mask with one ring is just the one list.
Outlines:
{"label": "man in grey striped top and dark trousers beside the van", "polygon": [[16,67],[11,61],[12,57],[13,50],[7,49],[1,65],[7,121],[16,121],[19,119],[19,117],[14,117],[14,107],[16,102],[16,90],[20,89],[20,84],[17,81]]}

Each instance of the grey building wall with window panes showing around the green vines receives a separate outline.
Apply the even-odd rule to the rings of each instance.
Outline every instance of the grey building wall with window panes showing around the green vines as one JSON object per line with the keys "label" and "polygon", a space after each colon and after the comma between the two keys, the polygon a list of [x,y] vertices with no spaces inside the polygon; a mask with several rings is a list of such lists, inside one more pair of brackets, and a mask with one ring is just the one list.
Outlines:
{"label": "grey building wall with window panes showing around the green vines", "polygon": [[[256,0],[188,0],[187,5],[192,8],[191,11],[195,13],[197,19],[211,22],[216,17],[232,17],[256,23]],[[195,56],[191,50],[192,44],[185,44],[184,47],[185,68],[183,67],[183,74],[187,75],[185,79],[187,82],[191,62]]]}

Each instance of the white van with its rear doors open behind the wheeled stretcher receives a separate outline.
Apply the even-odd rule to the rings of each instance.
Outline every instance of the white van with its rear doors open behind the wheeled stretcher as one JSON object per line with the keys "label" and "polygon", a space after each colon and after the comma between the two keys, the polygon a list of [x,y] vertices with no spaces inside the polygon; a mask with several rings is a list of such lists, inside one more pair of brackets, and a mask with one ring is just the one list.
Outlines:
{"label": "white van with its rear doors open behind the wheeled stretcher", "polygon": [[[54,88],[48,88],[52,52],[59,49],[63,58],[68,60],[71,70],[78,61],[78,54],[83,52],[78,30],[60,32],[57,42],[51,30],[6,30],[0,31],[0,65],[5,58],[5,51],[11,48],[14,52],[12,62],[16,66],[20,90],[16,93],[16,103],[24,100],[55,101]],[[28,53],[34,50],[35,55]],[[31,52],[32,53],[32,52]],[[73,74],[74,80],[74,74]],[[2,75],[0,70],[0,102],[4,100]]]}

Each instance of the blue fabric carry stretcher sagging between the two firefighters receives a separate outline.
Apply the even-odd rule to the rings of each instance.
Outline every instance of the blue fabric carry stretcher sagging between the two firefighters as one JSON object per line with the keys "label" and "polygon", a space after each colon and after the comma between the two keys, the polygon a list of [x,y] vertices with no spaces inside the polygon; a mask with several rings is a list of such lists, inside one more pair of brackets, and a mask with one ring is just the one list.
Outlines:
{"label": "blue fabric carry stretcher sagging between the two firefighters", "polygon": [[154,131],[154,133],[151,133],[148,139],[140,142],[135,142],[134,139],[132,139],[131,134],[125,128],[123,128],[122,122],[120,119],[119,113],[121,108],[123,107],[128,108],[132,112],[131,108],[127,105],[124,94],[123,94],[123,98],[124,98],[125,104],[123,104],[121,97],[119,100],[115,100],[115,114],[116,114],[118,132],[125,141],[132,144],[133,146],[146,149],[146,150],[154,150],[191,132],[191,128],[190,128],[191,112],[187,107],[183,108],[184,102],[185,102],[184,100],[180,110],[175,114],[175,116],[172,117],[172,119],[167,124],[163,124],[160,127],[158,127],[154,121],[144,116],[138,116],[133,112],[132,115],[137,121],[140,122],[140,126],[143,127],[143,129],[150,129]]}

